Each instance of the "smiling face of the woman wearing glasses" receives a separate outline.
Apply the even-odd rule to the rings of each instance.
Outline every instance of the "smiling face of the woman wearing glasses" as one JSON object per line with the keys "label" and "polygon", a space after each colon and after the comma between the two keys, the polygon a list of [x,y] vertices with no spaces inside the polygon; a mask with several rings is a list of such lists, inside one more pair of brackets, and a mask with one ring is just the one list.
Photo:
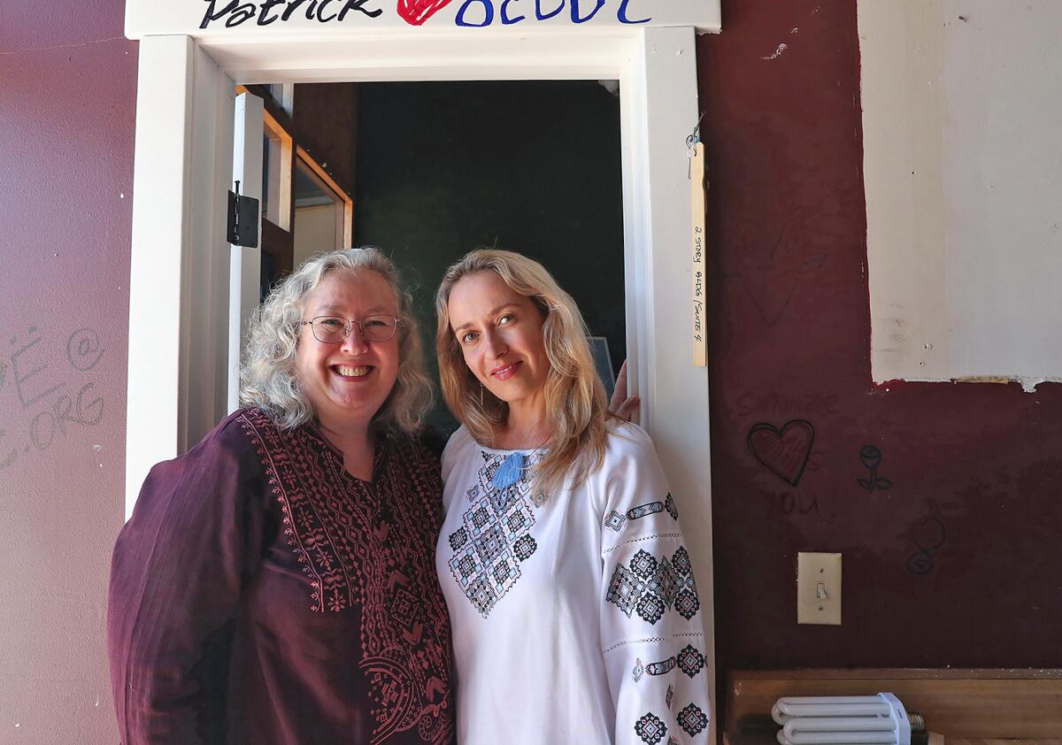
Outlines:
{"label": "smiling face of the woman wearing glasses", "polygon": [[[398,315],[398,302],[377,272],[335,271],[306,298],[303,320],[336,315],[360,320],[366,315]],[[339,344],[324,344],[303,326],[295,351],[295,375],[321,423],[332,430],[367,428],[398,378],[399,334],[366,342],[357,325]]]}

